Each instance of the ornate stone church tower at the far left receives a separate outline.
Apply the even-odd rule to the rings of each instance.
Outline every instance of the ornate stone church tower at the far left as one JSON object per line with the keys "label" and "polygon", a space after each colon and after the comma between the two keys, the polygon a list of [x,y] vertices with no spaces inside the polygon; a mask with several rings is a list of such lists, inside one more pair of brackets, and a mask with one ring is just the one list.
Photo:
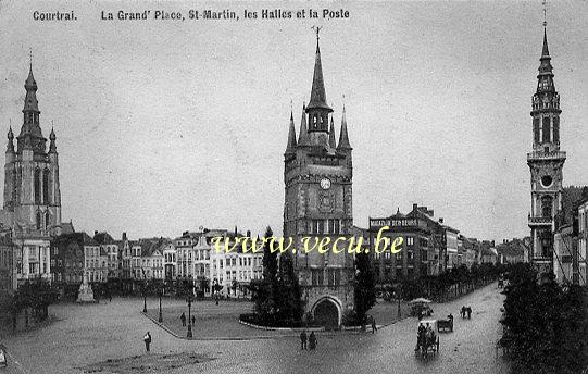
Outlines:
{"label": "ornate stone church tower at the far left", "polygon": [[50,278],[49,241],[61,234],[61,192],[55,133],[49,149],[39,125],[37,83],[29,66],[25,82],[23,126],[16,137],[8,132],[2,221],[13,228],[18,280]]}

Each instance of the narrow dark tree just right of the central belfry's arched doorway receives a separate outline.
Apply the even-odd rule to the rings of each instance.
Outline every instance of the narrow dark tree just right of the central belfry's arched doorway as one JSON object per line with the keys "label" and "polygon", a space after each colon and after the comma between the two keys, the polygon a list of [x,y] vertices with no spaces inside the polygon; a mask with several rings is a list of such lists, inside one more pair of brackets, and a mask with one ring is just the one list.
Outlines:
{"label": "narrow dark tree just right of the central belfry's arched doorway", "polygon": [[367,311],[376,303],[376,279],[370,255],[365,252],[355,255],[354,302],[356,322],[363,325]]}

